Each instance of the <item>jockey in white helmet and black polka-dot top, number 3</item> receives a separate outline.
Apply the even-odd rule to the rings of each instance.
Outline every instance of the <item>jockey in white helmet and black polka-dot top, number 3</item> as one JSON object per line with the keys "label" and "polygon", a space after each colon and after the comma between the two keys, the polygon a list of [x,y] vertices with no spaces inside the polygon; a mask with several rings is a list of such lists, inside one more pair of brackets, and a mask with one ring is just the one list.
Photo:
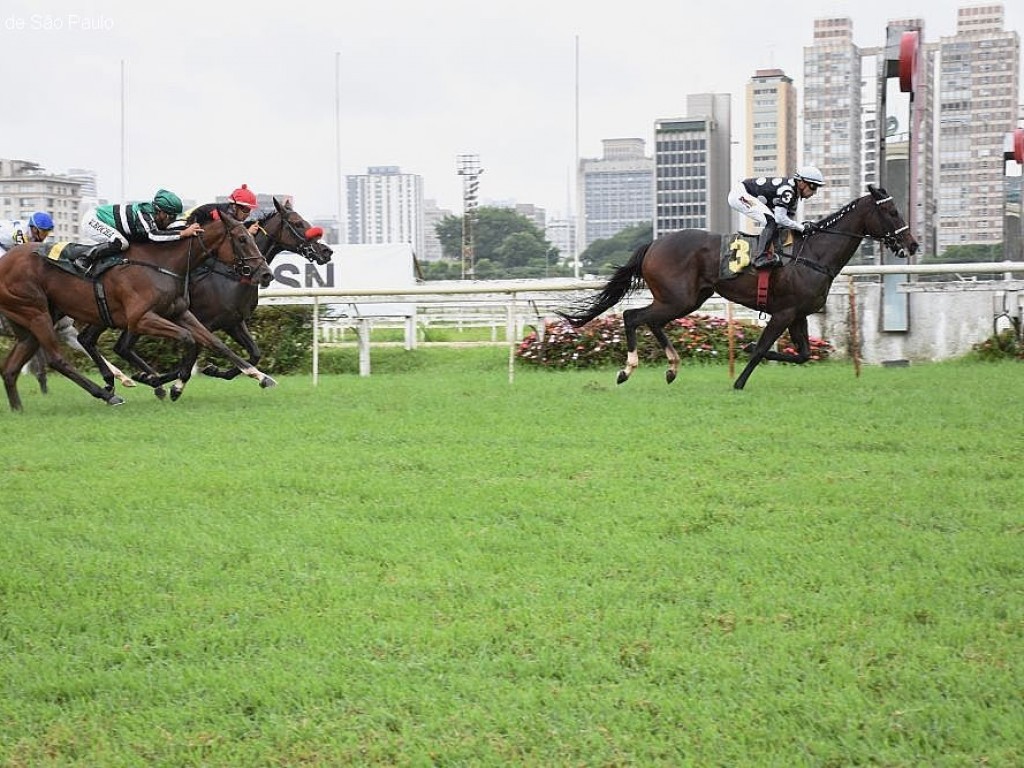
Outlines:
{"label": "jockey in white helmet and black polka-dot top, number 3", "polygon": [[758,240],[758,255],[754,258],[757,269],[778,266],[781,260],[772,250],[772,240],[778,226],[808,234],[813,225],[796,220],[797,206],[825,183],[821,171],[805,165],[790,178],[746,178],[737,181],[729,190],[729,206],[763,226]]}

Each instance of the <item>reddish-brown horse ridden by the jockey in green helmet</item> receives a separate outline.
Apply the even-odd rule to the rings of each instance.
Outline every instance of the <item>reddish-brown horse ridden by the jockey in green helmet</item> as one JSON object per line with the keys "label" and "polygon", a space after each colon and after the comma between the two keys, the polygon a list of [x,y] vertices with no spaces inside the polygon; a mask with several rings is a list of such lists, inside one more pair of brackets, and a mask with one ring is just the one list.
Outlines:
{"label": "reddish-brown horse ridden by the jockey in green helmet", "polygon": [[[273,386],[273,379],[231,351],[188,310],[188,273],[207,259],[244,265],[264,285],[269,285],[272,276],[241,222],[221,216],[204,223],[204,227],[196,238],[177,243],[134,244],[121,263],[95,279],[84,279],[45,258],[47,246],[43,244],[16,246],[8,251],[0,259],[0,312],[7,316],[17,342],[4,360],[0,376],[11,410],[22,410],[17,376],[40,346],[46,350],[53,370],[89,394],[112,406],[124,402],[113,386],[96,385],[61,354],[53,327],[53,317],[61,314],[89,325],[109,325],[180,341],[185,351],[177,371],[162,377],[162,383],[176,379],[172,397],[180,395],[191,376],[199,353],[197,342],[230,359],[247,376],[257,379],[261,387]],[[101,359],[95,362],[103,370]]]}

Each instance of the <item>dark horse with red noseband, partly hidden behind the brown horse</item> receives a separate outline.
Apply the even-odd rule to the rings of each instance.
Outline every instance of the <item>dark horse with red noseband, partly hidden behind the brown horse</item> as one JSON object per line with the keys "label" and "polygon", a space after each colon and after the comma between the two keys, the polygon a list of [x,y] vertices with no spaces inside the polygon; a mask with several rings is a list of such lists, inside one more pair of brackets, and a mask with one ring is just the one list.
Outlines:
{"label": "dark horse with red noseband, partly hidden behind the brown horse", "polygon": [[[282,204],[273,200],[274,210],[256,222],[256,247],[269,264],[273,257],[282,251],[292,251],[316,264],[326,264],[331,260],[332,250],[319,242],[324,230],[309,224],[290,203]],[[190,223],[197,216],[208,216],[217,206],[208,204],[200,206],[187,220]],[[249,355],[249,365],[256,366],[262,353],[247,322],[252,317],[253,310],[259,300],[259,287],[251,278],[236,265],[218,261],[207,261],[193,271],[189,283],[190,309],[199,321],[211,331],[223,331],[233,339]],[[90,348],[95,348],[96,340],[104,331],[103,327],[91,326],[82,329],[79,340]],[[114,346],[121,357],[133,364],[144,372],[138,377],[142,383],[152,383],[156,372],[134,350],[135,335],[131,331],[121,334]],[[203,369],[207,376],[220,379],[233,379],[241,370],[237,365],[219,369],[209,364]],[[113,385],[113,382],[108,381]],[[155,387],[157,395],[163,396],[163,390]]]}

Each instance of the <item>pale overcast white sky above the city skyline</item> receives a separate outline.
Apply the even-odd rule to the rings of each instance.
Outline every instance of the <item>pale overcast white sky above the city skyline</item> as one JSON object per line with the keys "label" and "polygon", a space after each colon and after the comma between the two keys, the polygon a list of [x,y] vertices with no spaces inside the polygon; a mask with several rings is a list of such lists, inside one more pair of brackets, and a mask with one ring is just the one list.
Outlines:
{"label": "pale overcast white sky above the city skyline", "polygon": [[[921,17],[937,42],[974,4],[4,0],[0,157],[93,169],[112,200],[166,186],[207,201],[247,182],[293,194],[309,218],[338,211],[340,137],[342,174],[399,166],[458,213],[456,156],[477,154],[484,202],[565,215],[578,116],[582,157],[614,137],[650,154],[654,121],[683,116],[687,94],[731,93],[742,140],[748,80],[774,67],[801,88],[814,18],[850,16],[866,47],[888,20]],[[1024,3],[1004,6],[1024,31]]]}

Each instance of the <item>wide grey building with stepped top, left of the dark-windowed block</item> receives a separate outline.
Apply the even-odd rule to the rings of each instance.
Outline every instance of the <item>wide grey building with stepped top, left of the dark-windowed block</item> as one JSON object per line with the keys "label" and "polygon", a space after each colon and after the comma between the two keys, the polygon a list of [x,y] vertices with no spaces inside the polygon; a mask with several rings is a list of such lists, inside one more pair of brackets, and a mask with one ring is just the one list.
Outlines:
{"label": "wide grey building with stepped top, left of the dark-windowed block", "polygon": [[[654,214],[654,161],[642,138],[603,139],[600,159],[580,161],[580,250],[606,240]],[[572,255],[571,252],[563,255]]]}

